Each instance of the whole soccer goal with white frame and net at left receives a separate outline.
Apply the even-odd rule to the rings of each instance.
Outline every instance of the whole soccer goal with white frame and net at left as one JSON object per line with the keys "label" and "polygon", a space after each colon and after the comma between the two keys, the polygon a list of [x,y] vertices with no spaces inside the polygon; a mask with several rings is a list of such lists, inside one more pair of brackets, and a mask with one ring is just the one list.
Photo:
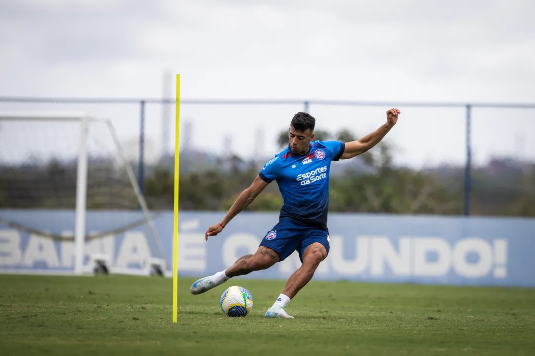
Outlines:
{"label": "whole soccer goal with white frame and net at left", "polygon": [[167,267],[116,132],[83,114],[0,114],[0,270]]}

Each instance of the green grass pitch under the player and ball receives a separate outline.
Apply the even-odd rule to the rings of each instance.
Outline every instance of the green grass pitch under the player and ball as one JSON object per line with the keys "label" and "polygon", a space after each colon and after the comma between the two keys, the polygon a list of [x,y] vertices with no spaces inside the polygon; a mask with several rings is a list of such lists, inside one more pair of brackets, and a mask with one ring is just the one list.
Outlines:
{"label": "green grass pitch under the player and ball", "polygon": [[[533,355],[535,290],[312,281],[265,319],[285,281],[235,279],[205,294],[179,280],[0,275],[0,354]],[[219,297],[254,298],[228,318]]]}

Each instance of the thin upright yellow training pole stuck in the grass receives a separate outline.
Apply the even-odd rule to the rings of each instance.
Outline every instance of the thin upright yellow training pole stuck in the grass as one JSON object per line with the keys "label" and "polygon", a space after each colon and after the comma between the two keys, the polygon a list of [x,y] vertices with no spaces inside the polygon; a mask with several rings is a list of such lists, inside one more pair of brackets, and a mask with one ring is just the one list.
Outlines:
{"label": "thin upright yellow training pole stuck in the grass", "polygon": [[173,217],[173,322],[177,322],[178,307],[178,167],[180,157],[180,74],[177,74],[177,112],[174,136],[174,217]]}

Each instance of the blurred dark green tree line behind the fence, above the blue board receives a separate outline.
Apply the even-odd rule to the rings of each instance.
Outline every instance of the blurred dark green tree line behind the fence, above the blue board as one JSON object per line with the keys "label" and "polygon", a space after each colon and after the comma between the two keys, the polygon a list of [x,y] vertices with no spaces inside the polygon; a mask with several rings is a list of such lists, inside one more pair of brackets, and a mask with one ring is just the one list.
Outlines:
{"label": "blurred dark green tree line behind the fence, above the blue board", "polygon": [[[349,130],[319,130],[315,139],[347,142],[355,136]],[[281,132],[277,139],[280,148],[287,142],[287,132]],[[383,141],[355,157],[353,160],[358,164],[348,165],[342,174],[331,173],[330,211],[462,215],[464,167],[396,167],[394,154],[393,146]],[[147,169],[143,191],[152,210],[173,209],[174,177],[170,162]],[[473,170],[472,215],[535,216],[535,164],[500,162]],[[202,169],[185,169],[182,173],[181,157],[179,208],[227,210],[251,184],[263,163],[247,162],[238,156],[217,157]],[[185,159],[184,167],[187,164]],[[73,209],[75,184],[74,161],[0,166],[0,208]],[[119,174],[117,168],[106,162],[89,164],[87,203],[88,209],[139,209],[126,173]],[[272,183],[247,210],[278,211],[282,204],[278,186]]]}

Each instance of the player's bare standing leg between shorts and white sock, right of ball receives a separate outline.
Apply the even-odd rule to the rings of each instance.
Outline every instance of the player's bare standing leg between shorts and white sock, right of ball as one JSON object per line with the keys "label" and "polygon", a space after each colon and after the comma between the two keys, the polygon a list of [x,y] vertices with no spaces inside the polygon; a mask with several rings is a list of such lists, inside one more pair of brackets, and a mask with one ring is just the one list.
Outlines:
{"label": "player's bare standing leg between shorts and white sock, right of ball", "polygon": [[297,292],[310,282],[314,272],[316,272],[316,268],[325,257],[327,257],[325,247],[319,242],[312,243],[303,253],[303,264],[290,276],[282,294],[290,299],[295,297]]}

